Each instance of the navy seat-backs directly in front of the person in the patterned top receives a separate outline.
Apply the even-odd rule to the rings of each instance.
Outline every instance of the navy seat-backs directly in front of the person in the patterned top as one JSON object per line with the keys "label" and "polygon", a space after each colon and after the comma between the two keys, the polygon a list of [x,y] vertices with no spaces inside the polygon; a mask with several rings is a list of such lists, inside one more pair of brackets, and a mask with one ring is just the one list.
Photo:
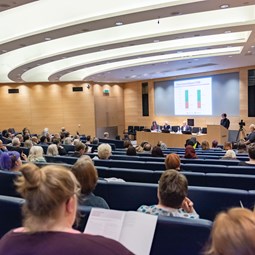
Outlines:
{"label": "navy seat-backs directly in front of the person in the patterned top", "polygon": [[[157,204],[157,184],[99,181],[95,194],[103,197],[111,209],[137,210],[141,205]],[[219,211],[230,207],[253,208],[255,190],[189,186],[188,197],[202,219],[214,220]]]}

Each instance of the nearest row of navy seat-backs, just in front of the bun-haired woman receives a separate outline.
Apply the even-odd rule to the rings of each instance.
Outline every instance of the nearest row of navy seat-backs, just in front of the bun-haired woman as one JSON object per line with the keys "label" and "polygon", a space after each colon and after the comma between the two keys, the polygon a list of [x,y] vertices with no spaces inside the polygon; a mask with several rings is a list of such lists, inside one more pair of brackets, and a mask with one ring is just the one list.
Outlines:
{"label": "nearest row of navy seat-backs, just in front of the bun-haired woman", "polygon": [[[21,226],[21,206],[23,199],[0,196],[0,238],[9,230]],[[90,207],[80,206],[82,215],[77,229],[83,231],[87,223]],[[151,247],[151,255],[197,255],[206,244],[212,222],[208,220],[158,217]],[[171,242],[169,242],[171,240]],[[185,240],[185,243],[184,243]]]}

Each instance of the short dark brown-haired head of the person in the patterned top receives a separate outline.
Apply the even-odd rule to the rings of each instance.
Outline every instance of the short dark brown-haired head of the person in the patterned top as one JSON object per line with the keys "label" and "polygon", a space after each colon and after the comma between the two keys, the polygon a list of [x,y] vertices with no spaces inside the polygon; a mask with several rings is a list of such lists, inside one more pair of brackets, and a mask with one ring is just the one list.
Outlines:
{"label": "short dark brown-haired head of the person in the patterned top", "polygon": [[188,193],[186,177],[176,170],[166,170],[159,179],[159,203],[172,208],[180,208]]}

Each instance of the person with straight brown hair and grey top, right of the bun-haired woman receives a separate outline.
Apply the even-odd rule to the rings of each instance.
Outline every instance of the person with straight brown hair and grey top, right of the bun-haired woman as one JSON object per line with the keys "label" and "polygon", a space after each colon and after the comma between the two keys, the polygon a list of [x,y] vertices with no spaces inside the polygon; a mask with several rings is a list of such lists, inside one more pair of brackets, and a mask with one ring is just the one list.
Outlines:
{"label": "person with straight brown hair and grey top, right of the bun-haired woman", "polygon": [[89,156],[80,157],[73,165],[72,172],[81,185],[79,204],[109,209],[108,204],[103,198],[93,194],[98,174],[91,158]]}

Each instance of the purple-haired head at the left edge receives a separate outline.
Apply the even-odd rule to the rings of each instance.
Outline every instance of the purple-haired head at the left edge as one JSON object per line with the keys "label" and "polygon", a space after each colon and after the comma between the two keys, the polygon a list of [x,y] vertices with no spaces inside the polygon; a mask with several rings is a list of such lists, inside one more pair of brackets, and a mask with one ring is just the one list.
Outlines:
{"label": "purple-haired head at the left edge", "polygon": [[18,171],[22,165],[17,151],[7,151],[0,155],[0,167],[3,170]]}

